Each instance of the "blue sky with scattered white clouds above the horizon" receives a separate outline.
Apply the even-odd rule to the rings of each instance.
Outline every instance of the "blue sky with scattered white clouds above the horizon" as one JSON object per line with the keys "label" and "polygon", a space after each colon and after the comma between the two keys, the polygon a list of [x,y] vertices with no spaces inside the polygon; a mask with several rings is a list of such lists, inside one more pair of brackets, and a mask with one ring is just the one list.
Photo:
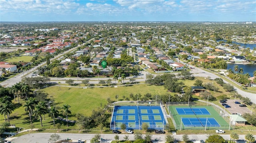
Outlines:
{"label": "blue sky with scattered white clouds above the horizon", "polygon": [[256,21],[256,0],[0,0],[0,21]]}

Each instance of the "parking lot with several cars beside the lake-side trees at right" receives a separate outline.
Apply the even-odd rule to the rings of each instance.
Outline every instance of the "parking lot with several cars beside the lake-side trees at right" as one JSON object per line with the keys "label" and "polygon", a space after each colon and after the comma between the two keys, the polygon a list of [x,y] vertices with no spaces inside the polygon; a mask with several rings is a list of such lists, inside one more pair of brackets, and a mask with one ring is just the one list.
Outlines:
{"label": "parking lot with several cars beside the lake-side trees at right", "polygon": [[[238,102],[242,103],[240,100],[235,100],[235,101],[238,101]],[[239,114],[243,115],[245,113],[251,113],[250,109],[248,109],[247,107],[239,107],[240,104],[235,104],[234,103],[235,101],[233,99],[227,100],[226,104],[231,106],[231,108],[226,108],[225,110],[228,110],[230,112],[230,114],[232,114],[232,113],[239,113]],[[222,103],[220,103],[220,106],[222,106],[221,104]]]}

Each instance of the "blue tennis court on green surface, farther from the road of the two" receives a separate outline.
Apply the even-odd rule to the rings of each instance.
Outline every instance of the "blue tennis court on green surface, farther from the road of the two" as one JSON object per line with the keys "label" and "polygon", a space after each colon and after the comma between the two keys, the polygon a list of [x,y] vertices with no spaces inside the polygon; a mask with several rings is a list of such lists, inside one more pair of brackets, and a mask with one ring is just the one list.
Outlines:
{"label": "blue tennis court on green surface, farther from the road of the two", "polygon": [[176,108],[179,115],[211,115],[206,108]]}

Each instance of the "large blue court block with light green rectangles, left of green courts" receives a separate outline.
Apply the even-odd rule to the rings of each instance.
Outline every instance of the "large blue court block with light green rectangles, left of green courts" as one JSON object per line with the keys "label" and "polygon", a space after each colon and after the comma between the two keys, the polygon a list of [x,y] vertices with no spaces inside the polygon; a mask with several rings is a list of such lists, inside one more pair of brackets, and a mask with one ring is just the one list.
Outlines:
{"label": "large blue court block with light green rectangles, left of green courts", "polygon": [[130,129],[142,129],[142,124],[149,129],[163,129],[166,124],[160,106],[114,106],[110,129],[120,129],[125,124]]}

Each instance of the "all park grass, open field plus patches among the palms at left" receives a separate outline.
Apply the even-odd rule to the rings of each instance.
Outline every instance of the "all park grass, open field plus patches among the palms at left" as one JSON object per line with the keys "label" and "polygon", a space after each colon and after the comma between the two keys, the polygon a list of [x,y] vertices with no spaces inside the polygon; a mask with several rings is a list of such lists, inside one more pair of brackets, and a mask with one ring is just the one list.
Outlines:
{"label": "all park grass, open field plus patches among the palms at left", "polygon": [[[69,87],[60,87],[51,86],[42,91],[48,93],[49,99],[54,100],[56,106],[62,107],[64,104],[69,104],[70,110],[73,116],[69,116],[68,119],[76,120],[74,117],[75,114],[81,113],[86,116],[90,116],[92,114],[92,110],[97,110],[100,105],[104,105],[107,103],[106,99],[111,98],[116,101],[115,95],[119,95],[119,100],[122,100],[122,96],[129,97],[130,93],[133,94],[142,94],[142,96],[146,93],[155,94],[165,94],[166,90],[162,86],[149,86],[146,84],[134,85],[134,86],[121,86],[118,88],[114,87],[106,87],[106,88],[69,88]],[[129,97],[130,98],[130,97]],[[15,103],[16,109],[10,114],[10,123],[15,124],[16,127],[24,127],[25,129],[30,128],[30,121],[28,113],[25,112],[23,104],[24,100],[20,99],[20,104],[13,101]],[[62,116],[61,112],[59,114]],[[0,115],[0,123],[4,122],[4,116]],[[56,129],[53,126],[53,121],[48,115],[45,115],[45,120],[42,120],[43,128],[45,129]],[[78,129],[77,125],[70,124],[70,127],[66,127],[66,122],[57,121],[55,123],[61,123],[62,129]],[[33,121],[34,128],[42,128],[40,126],[40,119],[35,119]],[[98,128],[96,128],[98,129]]]}

